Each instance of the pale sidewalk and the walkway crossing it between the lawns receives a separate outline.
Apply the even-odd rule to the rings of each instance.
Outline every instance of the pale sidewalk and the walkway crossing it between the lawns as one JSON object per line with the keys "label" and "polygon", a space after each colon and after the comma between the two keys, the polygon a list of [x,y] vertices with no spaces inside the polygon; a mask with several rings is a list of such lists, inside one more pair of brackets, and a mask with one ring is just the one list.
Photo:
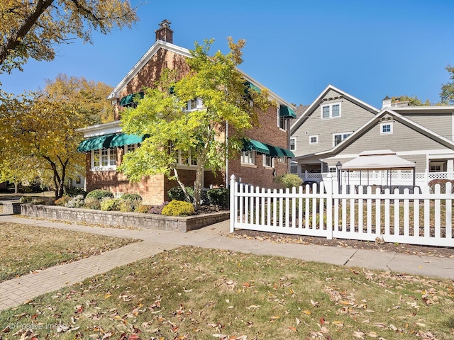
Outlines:
{"label": "pale sidewalk and the walkway crossing it between the lawns", "polygon": [[0,222],[15,222],[39,227],[50,227],[89,232],[113,237],[132,237],[143,242],[129,244],[120,249],[72,263],[47,268],[35,274],[28,274],[0,283],[0,310],[21,305],[43,293],[57,290],[80,282],[99,273],[110,271],[116,266],[145,259],[160,251],[178,246],[192,245],[205,248],[228,249],[243,253],[293,257],[304,261],[332,263],[340,266],[358,266],[382,271],[396,271],[420,276],[434,276],[454,279],[454,259],[433,256],[416,256],[390,251],[315,246],[304,244],[273,244],[255,239],[228,237],[229,221],[216,223],[192,232],[167,232],[153,229],[114,229],[70,225],[64,222],[50,222],[0,215]]}

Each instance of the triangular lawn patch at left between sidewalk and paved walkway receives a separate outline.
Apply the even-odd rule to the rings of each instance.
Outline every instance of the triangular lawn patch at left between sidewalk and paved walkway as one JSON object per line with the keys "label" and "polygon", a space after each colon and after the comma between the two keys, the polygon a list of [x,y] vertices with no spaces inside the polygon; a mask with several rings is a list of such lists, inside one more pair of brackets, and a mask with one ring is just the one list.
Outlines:
{"label": "triangular lawn patch at left between sidewalk and paved walkway", "polygon": [[0,222],[0,282],[133,242],[137,240]]}

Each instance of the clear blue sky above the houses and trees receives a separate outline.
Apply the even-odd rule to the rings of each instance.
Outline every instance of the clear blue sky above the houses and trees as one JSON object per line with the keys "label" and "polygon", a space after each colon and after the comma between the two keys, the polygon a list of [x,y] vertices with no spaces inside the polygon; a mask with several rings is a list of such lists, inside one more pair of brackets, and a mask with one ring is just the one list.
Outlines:
{"label": "clear blue sky above the houses and trees", "polygon": [[167,18],[175,45],[214,38],[227,52],[228,36],[244,38],[245,73],[294,104],[308,105],[332,84],[378,108],[384,96],[439,101],[445,70],[454,64],[454,1],[153,1],[132,0],[132,29],[95,33],[57,45],[52,62],[30,60],[24,72],[1,74],[1,88],[19,94],[45,86],[57,74],[116,86],[155,42]]}

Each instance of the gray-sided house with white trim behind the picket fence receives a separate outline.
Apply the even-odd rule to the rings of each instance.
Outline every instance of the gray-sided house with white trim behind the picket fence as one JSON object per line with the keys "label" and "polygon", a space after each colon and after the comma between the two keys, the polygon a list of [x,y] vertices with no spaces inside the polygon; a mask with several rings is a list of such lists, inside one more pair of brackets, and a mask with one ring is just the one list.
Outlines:
{"label": "gray-sided house with white trim behind the picket fence", "polygon": [[382,103],[377,109],[328,85],[291,127],[292,169],[303,178],[336,173],[338,162],[388,149],[414,162],[416,172],[454,175],[454,106]]}

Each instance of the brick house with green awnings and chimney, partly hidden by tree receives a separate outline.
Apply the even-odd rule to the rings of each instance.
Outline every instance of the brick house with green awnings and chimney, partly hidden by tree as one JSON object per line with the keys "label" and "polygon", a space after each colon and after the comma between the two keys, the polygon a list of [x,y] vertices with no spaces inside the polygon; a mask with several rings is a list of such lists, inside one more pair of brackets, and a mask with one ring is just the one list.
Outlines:
{"label": "brick house with green awnings and chimney, partly hidden by tree", "polygon": [[[108,97],[114,107],[114,122],[82,129],[85,140],[79,145],[78,151],[86,153],[87,191],[102,188],[116,196],[123,193],[138,193],[143,197],[144,203],[160,204],[168,200],[167,191],[178,185],[165,175],[144,176],[140,183],[132,183],[126,176],[116,171],[123,154],[140,147],[140,142],[143,141],[143,137],[121,132],[123,108],[133,105],[133,96],[139,94],[144,87],[153,86],[164,69],[177,69],[181,77],[189,72],[186,58],[191,55],[186,48],[172,43],[173,31],[170,29],[170,23],[167,20],[162,21],[155,33],[155,43]],[[263,87],[255,79],[241,73],[250,86],[255,89]],[[289,159],[294,156],[289,151],[289,120],[296,118],[294,106],[272,91],[270,96],[276,101],[277,107],[270,106],[267,112],[259,114],[258,127],[246,132],[250,141],[245,144],[243,152],[238,157],[226,160],[226,170],[223,173],[215,175],[210,170],[204,171],[204,187],[226,186],[230,176],[235,174],[243,183],[274,188],[274,177],[289,172]],[[195,110],[202,107],[203,103],[196,99],[189,101],[185,109]],[[226,124],[223,138],[228,139],[233,133]],[[178,172],[185,185],[194,184],[195,170],[191,159],[179,159]]]}

